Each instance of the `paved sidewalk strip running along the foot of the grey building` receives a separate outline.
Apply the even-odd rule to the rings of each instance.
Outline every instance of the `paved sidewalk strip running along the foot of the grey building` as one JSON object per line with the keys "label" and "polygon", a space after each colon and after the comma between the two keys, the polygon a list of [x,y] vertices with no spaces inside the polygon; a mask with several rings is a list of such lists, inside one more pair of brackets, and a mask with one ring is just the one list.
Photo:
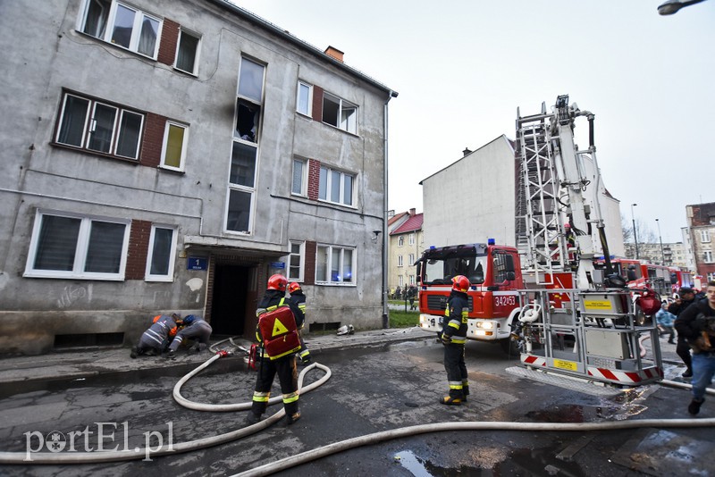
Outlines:
{"label": "paved sidewalk strip running along the foot of the grey building", "polygon": [[[337,336],[335,333],[315,337],[307,335],[306,343],[315,356],[327,349],[380,346],[431,337],[433,333],[412,327],[357,331],[352,335],[343,336]],[[233,339],[233,342],[247,349],[251,346],[251,341],[248,339]],[[223,343],[219,348],[222,347],[231,348],[228,342]],[[0,384],[12,386],[13,383],[19,382],[81,379],[115,372],[198,365],[212,356],[207,350],[191,355],[181,350],[173,360],[162,356],[139,356],[131,359],[129,355],[129,347],[91,347],[57,351],[40,356],[0,356]]]}

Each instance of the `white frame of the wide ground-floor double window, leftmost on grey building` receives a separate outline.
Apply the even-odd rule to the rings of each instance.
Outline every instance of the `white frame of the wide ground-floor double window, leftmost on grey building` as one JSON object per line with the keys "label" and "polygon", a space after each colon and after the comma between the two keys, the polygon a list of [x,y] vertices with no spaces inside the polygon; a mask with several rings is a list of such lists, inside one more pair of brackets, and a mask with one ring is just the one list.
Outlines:
{"label": "white frame of the wide ground-floor double window, leftmost on grey building", "polygon": [[[80,220],[80,230],[75,243],[74,263],[71,270],[46,270],[34,268],[35,259],[38,255],[40,232],[42,221],[46,216],[63,217]],[[116,273],[107,272],[85,272],[87,264],[87,254],[89,247],[89,234],[92,222],[109,222],[124,225],[124,236],[122,237],[122,251],[119,270]],[[124,272],[127,265],[127,253],[129,250],[131,221],[127,219],[116,219],[100,217],[97,215],[83,215],[79,213],[66,213],[53,210],[38,209],[35,213],[35,224],[32,228],[32,237],[29,241],[28,260],[25,265],[24,277],[29,278],[55,278],[55,279],[76,279],[76,280],[124,280]]]}

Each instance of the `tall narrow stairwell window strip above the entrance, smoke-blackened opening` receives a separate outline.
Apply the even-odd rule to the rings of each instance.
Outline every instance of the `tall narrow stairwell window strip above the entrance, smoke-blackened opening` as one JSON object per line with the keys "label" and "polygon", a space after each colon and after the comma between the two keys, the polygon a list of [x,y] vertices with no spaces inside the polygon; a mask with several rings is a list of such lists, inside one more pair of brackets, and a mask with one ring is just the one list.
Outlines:
{"label": "tall narrow stairwell window strip above the entrance, smoke-blackened opening", "polygon": [[226,213],[226,230],[241,233],[249,233],[252,228],[264,71],[265,66],[241,58]]}

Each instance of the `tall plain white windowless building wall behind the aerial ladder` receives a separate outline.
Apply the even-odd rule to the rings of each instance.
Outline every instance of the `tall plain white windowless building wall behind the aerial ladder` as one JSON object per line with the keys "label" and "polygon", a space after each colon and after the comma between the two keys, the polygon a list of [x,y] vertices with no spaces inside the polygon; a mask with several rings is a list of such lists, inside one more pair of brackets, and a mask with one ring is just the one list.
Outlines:
{"label": "tall plain white windowless building wall behind the aerial ladder", "polygon": [[[514,143],[502,135],[422,180],[425,208],[425,244],[443,247],[486,242],[516,246],[516,197],[520,163],[515,160]],[[601,184],[600,203],[610,255],[623,255],[619,201],[611,197],[602,180],[595,180],[593,162],[583,155],[585,174],[592,184]],[[593,188],[585,199],[594,203]],[[593,234],[593,247],[601,253],[601,243]]]}

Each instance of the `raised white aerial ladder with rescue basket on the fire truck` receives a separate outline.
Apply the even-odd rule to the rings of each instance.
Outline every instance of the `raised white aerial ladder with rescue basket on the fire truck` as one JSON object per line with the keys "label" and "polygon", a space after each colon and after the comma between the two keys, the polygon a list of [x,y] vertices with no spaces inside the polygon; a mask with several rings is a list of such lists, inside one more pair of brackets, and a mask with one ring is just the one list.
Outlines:
{"label": "raised white aerial ladder with rescue basket on the fire truck", "polygon": [[[589,124],[585,150],[574,139],[579,118]],[[612,272],[593,119],[569,105],[568,95],[551,112],[545,104],[529,116],[517,109],[516,241],[528,278],[514,336],[527,368],[637,386],[662,379],[658,332],[654,323],[635,320],[626,281]]]}

